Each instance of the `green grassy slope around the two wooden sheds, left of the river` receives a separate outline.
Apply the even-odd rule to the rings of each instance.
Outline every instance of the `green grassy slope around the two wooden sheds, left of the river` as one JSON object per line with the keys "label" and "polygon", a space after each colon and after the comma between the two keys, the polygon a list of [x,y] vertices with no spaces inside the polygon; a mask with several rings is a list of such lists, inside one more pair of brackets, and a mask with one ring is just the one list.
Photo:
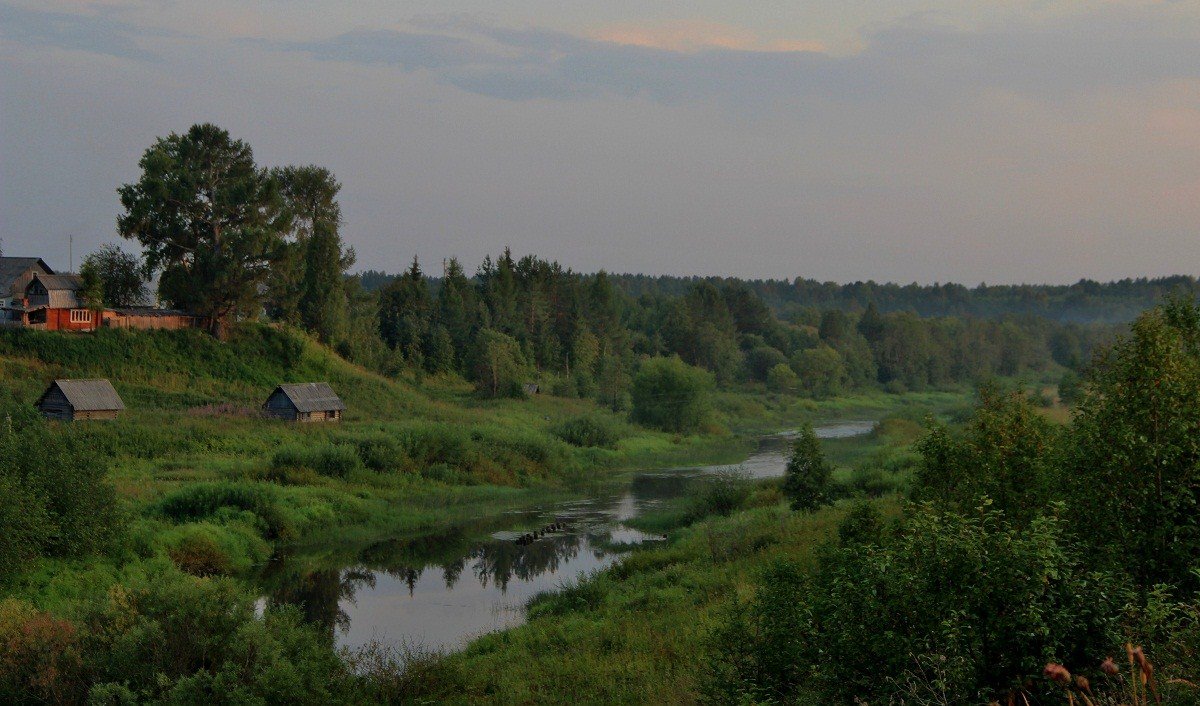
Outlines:
{"label": "green grassy slope around the two wooden sheds, left of the river", "polygon": [[[460,378],[385,378],[276,327],[241,327],[227,342],[199,331],[0,331],[0,397],[32,403],[54,378],[88,377],[109,378],[126,413],[58,433],[108,467],[146,551],[179,554],[203,531],[229,555],[222,567],[264,558],[263,542],[424,531],[583,487],[606,469],[740,448],[727,433],[636,427],[587,400],[482,400]],[[259,414],[276,384],[308,381],[342,396],[342,424]],[[564,441],[563,425],[578,419],[613,443]]]}

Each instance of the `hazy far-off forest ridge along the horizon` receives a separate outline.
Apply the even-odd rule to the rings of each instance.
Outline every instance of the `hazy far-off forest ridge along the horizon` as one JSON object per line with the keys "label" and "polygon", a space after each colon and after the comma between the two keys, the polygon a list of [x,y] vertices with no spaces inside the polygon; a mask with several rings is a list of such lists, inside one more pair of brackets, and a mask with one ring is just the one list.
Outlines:
{"label": "hazy far-off forest ridge along the horizon", "polygon": [[[395,275],[367,270],[362,286],[376,289]],[[434,277],[436,280],[436,277]],[[696,283],[744,287],[767,303],[781,318],[794,318],[804,309],[840,309],[862,312],[869,304],[881,312],[912,311],[922,317],[1001,317],[1032,315],[1062,323],[1127,323],[1171,294],[1200,295],[1200,280],[1189,275],[1138,277],[1074,285],[898,285],[894,282],[820,282],[817,280],[739,280],[736,277],[680,277],[672,275],[610,274],[608,280],[637,298],[686,294]]]}

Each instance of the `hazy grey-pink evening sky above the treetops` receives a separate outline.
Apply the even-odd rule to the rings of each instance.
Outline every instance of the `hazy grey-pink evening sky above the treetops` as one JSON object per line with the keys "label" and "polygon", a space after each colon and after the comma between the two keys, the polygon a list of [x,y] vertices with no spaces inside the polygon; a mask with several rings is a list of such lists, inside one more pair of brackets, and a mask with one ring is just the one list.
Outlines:
{"label": "hazy grey-pink evening sky above the treetops", "polygon": [[120,241],[116,189],[196,122],[331,169],[355,269],[1200,263],[1200,0],[0,0],[4,252]]}

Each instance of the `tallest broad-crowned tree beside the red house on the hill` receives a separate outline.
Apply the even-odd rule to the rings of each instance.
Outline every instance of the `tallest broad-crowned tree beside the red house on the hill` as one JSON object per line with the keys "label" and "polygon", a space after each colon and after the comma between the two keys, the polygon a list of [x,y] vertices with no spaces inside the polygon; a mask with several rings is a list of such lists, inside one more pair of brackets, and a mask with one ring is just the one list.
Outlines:
{"label": "tallest broad-crowned tree beside the red house on the hill", "polygon": [[228,317],[262,307],[289,226],[278,183],[248,144],[211,124],[160,138],[139,164],[142,178],[118,190],[118,232],[142,244],[148,271],[161,270],[160,297],[221,335]]}

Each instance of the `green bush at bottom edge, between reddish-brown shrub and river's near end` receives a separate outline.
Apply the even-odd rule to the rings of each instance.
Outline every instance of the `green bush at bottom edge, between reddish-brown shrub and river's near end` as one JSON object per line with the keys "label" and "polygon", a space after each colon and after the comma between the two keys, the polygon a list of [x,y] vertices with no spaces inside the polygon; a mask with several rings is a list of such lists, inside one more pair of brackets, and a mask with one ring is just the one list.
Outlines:
{"label": "green bush at bottom edge, between reddish-brown shrub and river's near end", "polygon": [[94,702],[121,702],[130,692],[170,704],[360,700],[354,677],[298,610],[269,606],[258,617],[254,596],[229,579],[146,569],[80,611]]}

